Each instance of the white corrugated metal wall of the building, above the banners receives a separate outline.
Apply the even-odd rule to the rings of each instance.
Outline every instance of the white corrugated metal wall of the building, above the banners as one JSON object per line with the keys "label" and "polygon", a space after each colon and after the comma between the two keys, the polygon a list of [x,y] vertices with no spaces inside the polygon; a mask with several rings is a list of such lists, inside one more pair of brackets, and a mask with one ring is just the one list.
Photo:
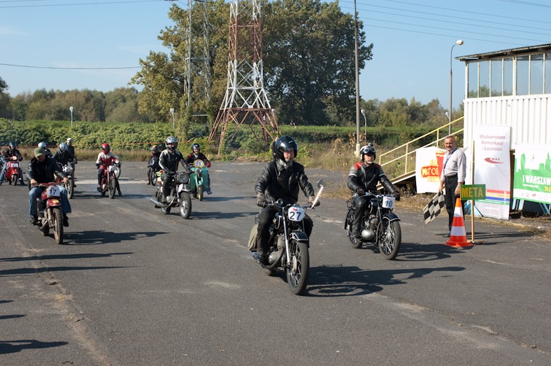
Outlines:
{"label": "white corrugated metal wall of the building, above the banners", "polygon": [[551,145],[551,94],[468,98],[464,101],[464,145],[473,141],[473,126],[511,127],[516,145]]}

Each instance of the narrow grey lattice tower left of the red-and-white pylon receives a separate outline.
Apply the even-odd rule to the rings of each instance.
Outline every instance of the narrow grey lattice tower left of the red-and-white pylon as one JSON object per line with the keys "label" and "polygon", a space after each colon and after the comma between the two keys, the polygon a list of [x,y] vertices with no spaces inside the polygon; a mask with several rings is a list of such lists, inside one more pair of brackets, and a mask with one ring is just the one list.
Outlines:
{"label": "narrow grey lattice tower left of the red-and-white pylon", "polygon": [[194,117],[206,116],[206,108],[210,103],[208,47],[208,0],[187,0],[184,96],[185,106]]}

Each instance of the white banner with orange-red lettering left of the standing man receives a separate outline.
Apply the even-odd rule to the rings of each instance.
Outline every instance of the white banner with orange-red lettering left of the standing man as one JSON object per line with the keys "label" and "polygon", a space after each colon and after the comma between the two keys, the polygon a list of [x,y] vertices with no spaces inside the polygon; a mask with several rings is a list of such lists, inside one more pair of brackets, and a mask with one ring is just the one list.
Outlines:
{"label": "white banner with orange-red lettering left of the standing man", "polygon": [[425,147],[415,154],[415,185],[417,193],[437,193],[444,166],[445,149]]}

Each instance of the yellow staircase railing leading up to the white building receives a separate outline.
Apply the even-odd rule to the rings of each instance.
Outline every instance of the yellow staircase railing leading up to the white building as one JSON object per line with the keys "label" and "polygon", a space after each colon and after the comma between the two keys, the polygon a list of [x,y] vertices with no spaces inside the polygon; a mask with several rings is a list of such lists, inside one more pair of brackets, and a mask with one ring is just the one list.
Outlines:
{"label": "yellow staircase railing leading up to the white building", "polygon": [[[398,182],[410,175],[415,175],[415,153],[417,149],[430,146],[438,147],[438,145],[443,147],[443,140],[449,135],[450,130],[453,136],[463,132],[463,120],[464,117],[459,117],[448,124],[438,127],[438,129],[434,129],[429,133],[425,133],[423,136],[419,136],[399,147],[395,147],[388,152],[378,155],[379,164],[384,168],[387,177],[389,177],[392,182]],[[461,122],[461,124],[459,124],[459,122]],[[458,128],[459,126],[460,128]],[[434,139],[420,146],[420,141],[427,140],[429,136],[434,136]]]}

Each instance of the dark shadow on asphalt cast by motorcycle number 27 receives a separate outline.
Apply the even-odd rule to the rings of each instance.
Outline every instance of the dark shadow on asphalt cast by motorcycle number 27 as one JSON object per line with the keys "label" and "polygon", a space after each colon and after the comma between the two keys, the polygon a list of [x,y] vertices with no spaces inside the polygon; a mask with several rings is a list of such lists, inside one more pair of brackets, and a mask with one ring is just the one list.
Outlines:
{"label": "dark shadow on asphalt cast by motorcycle number 27", "polygon": [[458,272],[464,267],[411,268],[404,270],[362,270],[342,265],[310,268],[310,279],[305,295],[317,297],[357,296],[381,291],[385,286],[407,284],[433,272]]}

